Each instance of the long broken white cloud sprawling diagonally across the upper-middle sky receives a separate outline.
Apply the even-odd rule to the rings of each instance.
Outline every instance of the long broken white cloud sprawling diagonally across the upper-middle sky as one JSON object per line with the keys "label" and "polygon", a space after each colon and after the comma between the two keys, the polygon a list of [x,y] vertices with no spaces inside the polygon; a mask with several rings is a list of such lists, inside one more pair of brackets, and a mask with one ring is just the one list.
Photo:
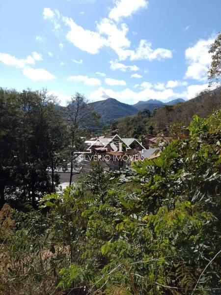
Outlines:
{"label": "long broken white cloud sprawling diagonally across the upper-middle sky", "polygon": [[[129,2],[128,7],[138,7],[141,3],[146,3],[145,0],[121,1],[124,2],[124,4]],[[58,10],[52,12],[51,10],[47,10],[45,12],[45,18],[54,24],[54,31],[60,29],[59,22],[63,22],[68,27],[68,32],[66,33],[67,40],[75,47],[90,54],[97,54],[101,48],[108,47],[118,55],[120,60],[161,60],[172,57],[172,52],[170,50],[164,48],[152,49],[152,44],[147,40],[140,40],[138,48],[136,50],[130,50],[131,42],[126,36],[129,29],[126,24],[118,25],[111,19],[103,18],[100,22],[97,22],[96,31],[91,31],[77,25],[71,18],[61,17]]]}

